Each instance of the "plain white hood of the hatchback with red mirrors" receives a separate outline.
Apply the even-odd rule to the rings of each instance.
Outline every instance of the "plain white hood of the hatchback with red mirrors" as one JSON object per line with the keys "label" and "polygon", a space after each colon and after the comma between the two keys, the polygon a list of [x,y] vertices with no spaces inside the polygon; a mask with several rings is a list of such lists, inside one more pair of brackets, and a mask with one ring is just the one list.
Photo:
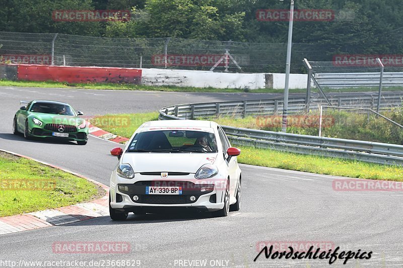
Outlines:
{"label": "plain white hood of the hatchback with red mirrors", "polygon": [[125,153],[122,163],[139,172],[196,173],[200,166],[213,164],[217,153]]}

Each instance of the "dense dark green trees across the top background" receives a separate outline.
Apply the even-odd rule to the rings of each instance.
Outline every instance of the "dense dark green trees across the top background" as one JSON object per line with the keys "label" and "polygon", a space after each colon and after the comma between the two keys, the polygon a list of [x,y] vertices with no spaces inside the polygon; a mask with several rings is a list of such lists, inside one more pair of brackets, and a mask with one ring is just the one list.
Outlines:
{"label": "dense dark green trees across the top background", "polygon": [[[0,31],[107,37],[178,37],[283,43],[288,22],[262,22],[260,9],[289,9],[290,0],[0,0]],[[295,0],[295,9],[332,10],[332,21],[295,21],[294,43],[333,53],[400,53],[399,0]],[[129,22],[55,22],[54,10],[131,10]]]}

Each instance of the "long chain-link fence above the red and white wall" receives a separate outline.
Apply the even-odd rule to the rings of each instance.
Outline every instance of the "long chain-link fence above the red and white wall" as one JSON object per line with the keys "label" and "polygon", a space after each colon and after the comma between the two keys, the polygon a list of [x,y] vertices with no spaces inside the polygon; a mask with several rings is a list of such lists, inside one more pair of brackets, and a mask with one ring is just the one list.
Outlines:
{"label": "long chain-link fence above the red and white wall", "polygon": [[[189,70],[211,70],[217,63],[214,71],[229,72],[284,72],[287,52],[285,43],[12,32],[0,32],[0,44],[0,62]],[[305,71],[304,57],[331,58],[323,45],[294,43],[292,51],[297,73]]]}

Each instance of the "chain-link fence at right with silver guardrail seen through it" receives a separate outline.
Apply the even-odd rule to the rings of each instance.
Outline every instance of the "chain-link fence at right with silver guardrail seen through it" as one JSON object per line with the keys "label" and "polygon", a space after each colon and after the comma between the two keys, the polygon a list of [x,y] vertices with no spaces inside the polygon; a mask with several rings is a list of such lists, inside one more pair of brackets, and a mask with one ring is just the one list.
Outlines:
{"label": "chain-link fence at right with silver guardrail seen through it", "polygon": [[401,59],[365,58],[341,61],[305,61],[314,87],[312,96],[328,105],[380,111],[403,102]]}

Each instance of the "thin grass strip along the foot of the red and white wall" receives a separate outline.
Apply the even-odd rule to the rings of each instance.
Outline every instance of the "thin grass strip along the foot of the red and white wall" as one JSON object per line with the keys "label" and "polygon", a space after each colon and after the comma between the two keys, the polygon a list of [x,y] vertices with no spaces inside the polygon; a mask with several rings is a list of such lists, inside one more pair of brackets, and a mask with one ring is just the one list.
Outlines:
{"label": "thin grass strip along the foot of the red and white wall", "polygon": [[[85,88],[88,90],[127,90],[127,91],[168,91],[168,92],[206,92],[206,93],[283,93],[284,90],[273,88],[259,88],[248,90],[244,88],[214,88],[191,86],[151,86],[129,83],[65,83],[54,81],[10,81],[1,80],[0,86],[25,86],[25,87],[61,87],[61,88]],[[291,89],[290,93],[304,93],[304,89]]]}

